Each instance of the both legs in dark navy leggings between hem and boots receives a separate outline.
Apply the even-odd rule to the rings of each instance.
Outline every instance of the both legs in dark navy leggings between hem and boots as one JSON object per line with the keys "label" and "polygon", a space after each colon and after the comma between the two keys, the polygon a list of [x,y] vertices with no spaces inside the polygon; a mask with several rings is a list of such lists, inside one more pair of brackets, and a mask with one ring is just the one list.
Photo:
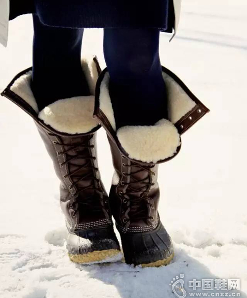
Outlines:
{"label": "both legs in dark navy leggings between hem and boots", "polygon": [[[89,95],[81,68],[83,29],[41,24],[34,15],[32,89],[41,110],[73,96]],[[165,117],[165,83],[159,29],[105,29],[104,55],[117,128],[153,125]]]}

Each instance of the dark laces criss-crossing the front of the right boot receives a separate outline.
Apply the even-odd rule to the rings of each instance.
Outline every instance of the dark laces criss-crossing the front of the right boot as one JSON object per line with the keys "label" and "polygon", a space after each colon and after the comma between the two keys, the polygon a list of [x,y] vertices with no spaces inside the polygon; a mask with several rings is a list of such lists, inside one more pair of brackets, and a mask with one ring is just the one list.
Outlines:
{"label": "dark laces criss-crossing the front of the right boot", "polygon": [[[135,220],[136,219],[153,220],[154,219],[153,216],[147,216],[146,205],[151,206],[152,209],[154,208],[153,204],[149,202],[148,194],[149,194],[149,188],[155,185],[155,183],[150,182],[149,176],[139,180],[134,175],[142,171],[147,171],[151,175],[155,175],[155,172],[152,171],[155,165],[144,167],[142,165],[132,163],[131,165],[123,164],[123,166],[126,168],[130,168],[130,173],[123,172],[123,175],[130,176],[131,177],[130,179],[132,180],[131,182],[123,182],[123,181],[121,182],[122,185],[127,185],[127,188],[125,190],[125,193],[120,192],[120,195],[127,195],[129,198],[128,200],[124,199],[125,200],[124,203],[129,204],[128,205],[129,208],[127,210],[129,219],[125,219],[125,220],[130,221],[131,220],[130,217],[133,217]],[[137,168],[139,170],[132,172],[132,168]],[[136,196],[136,192],[140,193],[140,195]]]}

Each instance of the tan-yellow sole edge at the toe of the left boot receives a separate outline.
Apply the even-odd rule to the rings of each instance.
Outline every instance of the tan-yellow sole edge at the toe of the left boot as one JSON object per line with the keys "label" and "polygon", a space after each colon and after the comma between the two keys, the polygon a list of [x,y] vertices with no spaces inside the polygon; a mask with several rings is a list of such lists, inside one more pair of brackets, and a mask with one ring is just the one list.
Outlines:
{"label": "tan-yellow sole edge at the toe of the left boot", "polygon": [[[104,262],[115,262],[122,259],[121,251],[111,249],[104,251],[94,251],[83,255],[68,254],[71,261],[79,264],[96,264]],[[119,257],[117,257],[119,255]]]}

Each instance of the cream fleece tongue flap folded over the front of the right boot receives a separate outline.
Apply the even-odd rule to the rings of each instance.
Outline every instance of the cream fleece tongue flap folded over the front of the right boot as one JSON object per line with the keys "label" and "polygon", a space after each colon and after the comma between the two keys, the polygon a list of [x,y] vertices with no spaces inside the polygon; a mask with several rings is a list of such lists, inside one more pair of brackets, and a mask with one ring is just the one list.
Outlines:
{"label": "cream fleece tongue flap folded over the front of the right boot", "polygon": [[119,128],[117,136],[130,158],[146,163],[156,163],[173,156],[180,145],[177,129],[166,119],[154,126]]}

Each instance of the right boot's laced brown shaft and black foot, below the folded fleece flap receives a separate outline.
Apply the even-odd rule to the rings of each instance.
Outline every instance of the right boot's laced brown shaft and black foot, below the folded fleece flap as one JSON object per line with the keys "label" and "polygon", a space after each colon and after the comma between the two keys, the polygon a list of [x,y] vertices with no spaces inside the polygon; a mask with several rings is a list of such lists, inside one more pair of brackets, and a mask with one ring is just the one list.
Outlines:
{"label": "right boot's laced brown shaft and black foot, below the folded fleece flap", "polygon": [[110,205],[125,261],[142,266],[166,265],[174,252],[158,213],[158,165],[133,162],[109,141],[115,167]]}

